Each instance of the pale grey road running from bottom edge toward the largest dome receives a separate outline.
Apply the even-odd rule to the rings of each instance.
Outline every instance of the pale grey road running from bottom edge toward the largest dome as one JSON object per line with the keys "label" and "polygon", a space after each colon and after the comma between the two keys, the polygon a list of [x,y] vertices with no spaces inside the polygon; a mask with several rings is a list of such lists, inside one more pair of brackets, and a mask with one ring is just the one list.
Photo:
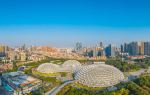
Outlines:
{"label": "pale grey road running from bottom edge toward the largest dome", "polygon": [[64,86],[66,86],[70,83],[73,83],[73,82],[74,82],[74,80],[67,81],[67,82],[63,83],[62,85],[60,85],[60,86],[54,87],[49,92],[45,93],[45,95],[56,95]]}

